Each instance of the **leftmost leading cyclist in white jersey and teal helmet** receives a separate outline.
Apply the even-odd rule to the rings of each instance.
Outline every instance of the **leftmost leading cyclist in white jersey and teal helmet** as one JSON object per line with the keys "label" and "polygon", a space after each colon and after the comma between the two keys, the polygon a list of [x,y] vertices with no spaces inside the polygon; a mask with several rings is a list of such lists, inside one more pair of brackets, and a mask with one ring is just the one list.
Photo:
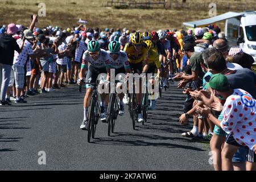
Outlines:
{"label": "leftmost leading cyclist in white jersey and teal helmet", "polygon": [[[98,75],[107,73],[106,80],[110,78],[110,57],[109,53],[104,49],[100,49],[100,43],[92,40],[88,43],[88,50],[82,56],[81,70],[77,84],[81,85],[83,77],[86,74],[85,82],[96,83]],[[84,120],[80,126],[82,130],[87,130],[88,127],[88,107],[90,98],[92,97],[92,85],[86,84],[86,94],[84,97]],[[108,106],[108,94],[101,94],[101,121],[106,122],[106,107]]]}

